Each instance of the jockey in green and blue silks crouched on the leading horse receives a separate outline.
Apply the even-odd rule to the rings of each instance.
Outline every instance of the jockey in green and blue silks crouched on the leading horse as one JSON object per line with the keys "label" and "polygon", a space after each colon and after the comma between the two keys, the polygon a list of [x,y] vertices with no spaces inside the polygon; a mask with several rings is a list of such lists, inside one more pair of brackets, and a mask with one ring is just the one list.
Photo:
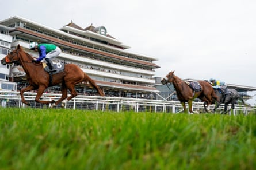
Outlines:
{"label": "jockey in green and blue silks crouched on the leading horse", "polygon": [[39,53],[39,58],[35,60],[36,62],[45,59],[47,65],[49,66],[50,72],[57,71],[51,59],[59,56],[61,50],[58,46],[54,44],[37,44],[36,42],[31,42],[29,45],[29,49]]}

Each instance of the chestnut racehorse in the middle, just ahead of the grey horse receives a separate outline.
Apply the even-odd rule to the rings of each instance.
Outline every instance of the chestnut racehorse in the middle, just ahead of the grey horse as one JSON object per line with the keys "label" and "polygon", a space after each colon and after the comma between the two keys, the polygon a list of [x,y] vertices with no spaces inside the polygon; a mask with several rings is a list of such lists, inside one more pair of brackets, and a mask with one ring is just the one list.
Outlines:
{"label": "chestnut racehorse in the middle, just ahead of the grey horse", "polygon": [[[173,83],[174,89],[176,90],[177,97],[181,102],[181,105],[186,112],[186,102],[189,105],[189,113],[193,113],[192,101],[194,98],[200,98],[204,102],[204,109],[206,112],[209,110],[209,106],[212,104],[213,100],[217,100],[217,96],[212,89],[212,85],[205,81],[197,81],[201,85],[201,90],[195,92],[190,86],[182,81],[181,78],[174,75],[174,71],[166,75],[166,78],[162,79],[162,84],[167,84],[168,82]],[[205,106],[207,104],[207,106]]]}

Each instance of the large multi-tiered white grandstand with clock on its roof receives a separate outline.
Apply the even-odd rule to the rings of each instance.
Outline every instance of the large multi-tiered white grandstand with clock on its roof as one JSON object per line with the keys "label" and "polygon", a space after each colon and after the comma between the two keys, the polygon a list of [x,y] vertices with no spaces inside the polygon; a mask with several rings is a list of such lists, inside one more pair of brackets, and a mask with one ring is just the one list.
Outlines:
{"label": "large multi-tiered white grandstand with clock on its roof", "polygon": [[[77,64],[97,82],[106,96],[139,98],[159,93],[152,86],[155,84],[152,76],[155,75],[155,69],[159,68],[154,63],[157,59],[128,51],[130,47],[109,35],[104,26],[90,25],[83,29],[71,21],[60,29],[53,29],[17,16],[0,21],[0,25],[3,29],[3,43],[6,43],[2,47],[1,41],[1,49],[13,49],[20,44],[26,52],[37,57],[37,53],[28,49],[30,42],[55,44],[62,49],[62,53],[54,62]],[[3,55],[6,54],[5,51]],[[9,68],[0,71],[0,78],[18,84],[26,83],[26,75],[21,66],[12,65],[10,72]],[[56,86],[51,90],[58,91],[59,88]],[[80,94],[95,93],[94,89],[84,84],[76,88]]]}

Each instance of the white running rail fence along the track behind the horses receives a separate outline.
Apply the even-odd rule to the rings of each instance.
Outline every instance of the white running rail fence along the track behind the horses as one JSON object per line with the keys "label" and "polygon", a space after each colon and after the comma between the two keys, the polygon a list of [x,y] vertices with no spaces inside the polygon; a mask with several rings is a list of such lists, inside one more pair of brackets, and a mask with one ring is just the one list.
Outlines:
{"label": "white running rail fence along the track behind the horses", "polygon": [[[44,93],[41,100],[58,100],[61,94]],[[36,93],[24,93],[26,101],[30,102],[30,106],[21,102],[19,92],[0,92],[1,104],[6,107],[19,108],[49,108],[51,104],[39,104],[35,102]],[[4,106],[4,105],[2,105]],[[61,108],[60,105],[56,106]],[[113,110],[116,112],[133,111],[133,112],[158,112],[158,113],[180,113],[183,108],[179,101],[163,101],[148,100],[142,98],[123,98],[123,97],[100,97],[100,96],[77,96],[66,103],[66,109],[85,109],[85,110]],[[211,106],[213,109],[214,105]],[[223,104],[219,109],[223,109]],[[188,105],[187,105],[188,108]],[[204,113],[202,102],[193,102],[194,112]],[[255,107],[245,107],[243,105],[235,105],[234,114],[255,112]],[[231,114],[231,113],[230,113]]]}

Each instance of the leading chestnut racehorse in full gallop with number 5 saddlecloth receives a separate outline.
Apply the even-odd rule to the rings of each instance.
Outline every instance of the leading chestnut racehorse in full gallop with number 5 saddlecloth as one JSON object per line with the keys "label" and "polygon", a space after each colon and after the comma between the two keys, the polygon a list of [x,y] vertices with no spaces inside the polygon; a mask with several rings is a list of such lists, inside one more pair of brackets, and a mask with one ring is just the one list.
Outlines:
{"label": "leading chestnut racehorse in full gallop with number 5 saddlecloth", "polygon": [[[52,103],[52,106],[58,105],[62,102],[62,107],[66,104],[66,101],[71,100],[77,96],[75,91],[75,85],[81,82],[85,82],[93,86],[100,96],[105,96],[102,90],[97,86],[93,79],[91,79],[86,73],[84,73],[77,65],[75,64],[65,64],[63,72],[50,75],[45,72],[43,64],[32,62],[33,57],[30,54],[26,53],[22,46],[18,45],[16,49],[10,52],[5,58],[1,60],[2,64],[9,64],[13,62],[18,62],[22,65],[25,73],[26,79],[29,82],[29,85],[21,89],[21,101],[30,105],[29,102],[25,101],[23,96],[24,92],[30,90],[37,90],[35,101],[41,104]],[[58,101],[44,101],[40,100],[40,97],[44,93],[44,90],[49,86],[54,86],[57,84],[62,84],[62,97]],[[70,90],[71,95],[67,97],[68,90]]]}

